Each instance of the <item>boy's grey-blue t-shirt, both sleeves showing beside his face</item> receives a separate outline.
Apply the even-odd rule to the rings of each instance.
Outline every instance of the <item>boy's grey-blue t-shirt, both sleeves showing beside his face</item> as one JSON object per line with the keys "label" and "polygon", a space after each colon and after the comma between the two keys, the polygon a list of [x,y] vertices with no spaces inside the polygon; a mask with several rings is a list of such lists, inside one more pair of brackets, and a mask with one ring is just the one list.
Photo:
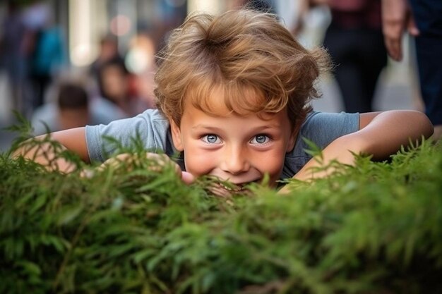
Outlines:
{"label": "boy's grey-blue t-shirt, both sleeves showing beside his face", "polygon": [[[311,155],[305,152],[309,147],[303,137],[323,149],[336,138],[357,130],[359,114],[311,112],[301,126],[293,150],[285,156],[281,178],[292,178],[311,159]],[[108,125],[87,125],[86,142],[90,160],[102,162],[117,151],[116,145],[109,144],[103,137],[113,137],[122,146],[129,147],[137,133],[145,149],[171,157],[178,154],[172,144],[169,121],[156,109],[148,109],[138,116],[112,121]],[[179,156],[176,161],[184,170],[184,158]]]}

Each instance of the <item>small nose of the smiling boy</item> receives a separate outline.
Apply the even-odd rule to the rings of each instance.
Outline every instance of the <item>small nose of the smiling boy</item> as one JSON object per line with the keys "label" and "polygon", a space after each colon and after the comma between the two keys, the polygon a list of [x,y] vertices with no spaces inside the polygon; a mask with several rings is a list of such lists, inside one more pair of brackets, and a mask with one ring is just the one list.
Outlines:
{"label": "small nose of the smiling boy", "polygon": [[223,157],[221,166],[223,171],[237,175],[250,169],[249,157],[244,147],[226,147]]}

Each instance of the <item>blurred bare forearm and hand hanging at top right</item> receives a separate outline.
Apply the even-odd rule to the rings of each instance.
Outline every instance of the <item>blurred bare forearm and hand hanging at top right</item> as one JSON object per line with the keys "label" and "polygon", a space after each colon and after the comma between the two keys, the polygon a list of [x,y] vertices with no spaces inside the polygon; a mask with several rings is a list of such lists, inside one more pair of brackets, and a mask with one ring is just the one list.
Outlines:
{"label": "blurred bare forearm and hand hanging at top right", "polygon": [[382,0],[382,30],[388,55],[402,60],[402,34],[405,29],[411,35],[419,35],[407,0]]}

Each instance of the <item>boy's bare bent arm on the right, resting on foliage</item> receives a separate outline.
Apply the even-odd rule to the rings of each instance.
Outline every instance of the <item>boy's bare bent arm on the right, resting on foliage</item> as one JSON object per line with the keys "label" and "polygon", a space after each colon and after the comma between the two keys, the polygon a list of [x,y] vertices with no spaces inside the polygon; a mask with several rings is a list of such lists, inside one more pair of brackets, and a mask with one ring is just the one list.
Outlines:
{"label": "boy's bare bent arm on the right, resting on foliage", "polygon": [[[354,164],[352,152],[371,154],[373,159],[387,159],[398,152],[400,147],[428,138],[433,133],[433,125],[425,114],[419,111],[394,110],[360,114],[359,131],[339,137],[323,149],[323,165],[332,160],[342,164]],[[313,173],[311,168],[321,166],[311,159],[294,176],[298,180],[309,180],[328,176],[333,171]]]}

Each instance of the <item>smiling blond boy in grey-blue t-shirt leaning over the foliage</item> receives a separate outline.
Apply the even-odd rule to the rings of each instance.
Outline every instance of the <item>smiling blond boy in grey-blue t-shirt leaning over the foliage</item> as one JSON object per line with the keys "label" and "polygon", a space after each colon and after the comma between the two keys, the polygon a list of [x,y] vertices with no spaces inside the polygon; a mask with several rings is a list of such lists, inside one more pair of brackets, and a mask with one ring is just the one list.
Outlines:
{"label": "smiling blond boy in grey-blue t-shirt leaning over the foliage", "polygon": [[[126,145],[138,132],[146,149],[181,152],[177,164],[186,183],[211,175],[241,189],[265,174],[271,185],[284,178],[325,176],[309,169],[318,163],[304,152],[303,137],[325,147],[325,164],[332,159],[352,164],[352,152],[385,159],[433,131],[417,111],[311,111],[309,99],[318,96],[313,82],[327,66],[327,55],[301,47],[270,14],[240,10],[190,16],[160,57],[158,110],[53,133],[54,140],[84,161],[106,161],[104,154],[115,150],[104,144],[103,135]],[[66,162],[58,164],[69,171]]]}

